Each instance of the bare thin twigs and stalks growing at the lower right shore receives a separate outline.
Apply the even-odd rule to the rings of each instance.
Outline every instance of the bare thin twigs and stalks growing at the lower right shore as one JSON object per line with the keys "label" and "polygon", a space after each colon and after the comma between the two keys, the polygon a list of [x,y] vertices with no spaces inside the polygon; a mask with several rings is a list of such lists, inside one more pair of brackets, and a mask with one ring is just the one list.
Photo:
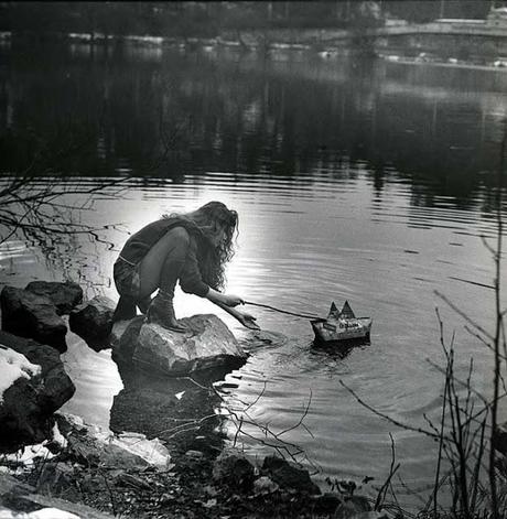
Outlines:
{"label": "bare thin twigs and stalks growing at the lower right shore", "polygon": [[[507,397],[505,372],[507,367],[507,342],[505,316],[507,309],[501,303],[504,252],[504,188],[505,163],[507,147],[507,122],[504,122],[504,134],[498,144],[497,185],[494,190],[496,240],[486,240],[484,246],[492,255],[494,279],[489,290],[494,299],[495,318],[493,329],[486,329],[472,315],[463,312],[450,301],[445,294],[435,291],[438,300],[450,307],[464,322],[464,329],[493,354],[493,378],[483,387],[477,387],[474,357],[464,359],[459,352],[455,331],[449,337],[449,331],[436,307],[440,328],[440,343],[444,355],[444,364],[439,365],[432,359],[429,364],[443,376],[441,394],[440,421],[432,421],[423,415],[425,426],[416,426],[401,422],[369,406],[359,394],[347,389],[357,402],[395,428],[417,432],[438,443],[436,463],[433,489],[425,505],[416,517],[431,519],[504,519],[507,517],[507,433],[505,424],[500,423],[500,402]],[[459,364],[467,364],[464,375],[460,375]],[[396,448],[391,436],[392,462],[389,476],[385,484],[382,505],[386,509],[395,510],[399,516],[411,517],[398,504],[392,479],[400,464],[396,459]],[[387,498],[389,496],[391,500]],[[379,496],[381,493],[379,493]],[[377,507],[376,507],[377,509]]]}

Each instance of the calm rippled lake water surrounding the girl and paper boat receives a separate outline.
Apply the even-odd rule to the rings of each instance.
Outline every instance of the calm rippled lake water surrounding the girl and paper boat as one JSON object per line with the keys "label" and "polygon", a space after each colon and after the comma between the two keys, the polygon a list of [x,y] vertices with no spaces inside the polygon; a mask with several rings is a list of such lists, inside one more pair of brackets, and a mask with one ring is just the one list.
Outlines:
{"label": "calm rippled lake water surrounding the girl and paper boat", "polygon": [[[162,213],[223,201],[240,223],[229,292],[317,315],[348,300],[374,318],[370,344],[338,355],[312,346],[304,318],[247,306],[271,332],[255,340],[213,304],[179,292],[179,316],[217,312],[251,354],[227,377],[229,404],[254,402],[252,420],[288,430],[282,437],[304,450],[323,489],[326,476],[382,482],[389,433],[403,482],[431,485],[435,444],[375,415],[341,382],[395,420],[436,422],[438,306],[447,343],[455,332],[460,372],[474,357],[475,387],[489,390],[488,352],[435,291],[492,329],[494,298],[483,285],[494,270],[482,236],[495,236],[507,73],[214,47],[36,54],[13,44],[1,53],[3,171],[22,167],[40,136],[75,132],[83,145],[52,164],[71,191],[128,176],[86,199],[69,193],[51,209],[60,216],[48,213],[51,223],[95,234],[29,229],[1,244],[1,282],[69,277],[88,296],[116,300],[112,262],[129,233]],[[40,180],[51,183],[63,185]],[[68,343],[77,392],[65,409],[108,425],[122,388],[116,365],[72,334]],[[270,452],[254,441],[245,447]]]}

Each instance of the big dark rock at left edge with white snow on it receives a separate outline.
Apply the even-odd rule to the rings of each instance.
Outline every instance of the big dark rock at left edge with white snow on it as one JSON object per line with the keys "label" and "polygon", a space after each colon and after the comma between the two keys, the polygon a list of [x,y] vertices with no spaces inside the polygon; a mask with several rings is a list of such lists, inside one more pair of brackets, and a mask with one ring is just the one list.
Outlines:
{"label": "big dark rock at left edge with white snow on it", "polygon": [[[3,391],[0,451],[13,452],[52,436],[53,413],[71,399],[75,387],[54,348],[6,332],[0,332],[0,344],[8,348],[2,348],[3,354],[9,350],[21,354],[30,364],[41,367],[40,370],[30,366],[20,368],[28,377],[20,375]],[[8,368],[11,370],[12,365]]]}

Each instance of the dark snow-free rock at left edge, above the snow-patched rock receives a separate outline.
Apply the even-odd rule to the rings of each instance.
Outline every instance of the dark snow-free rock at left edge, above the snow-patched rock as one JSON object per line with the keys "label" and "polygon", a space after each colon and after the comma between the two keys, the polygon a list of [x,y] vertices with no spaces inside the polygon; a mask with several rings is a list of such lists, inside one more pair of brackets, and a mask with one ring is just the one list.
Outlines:
{"label": "dark snow-free rock at left edge, above the snow-patched rock", "polygon": [[67,326],[50,299],[7,285],[0,295],[0,304],[2,329],[48,344],[61,353],[67,349]]}

